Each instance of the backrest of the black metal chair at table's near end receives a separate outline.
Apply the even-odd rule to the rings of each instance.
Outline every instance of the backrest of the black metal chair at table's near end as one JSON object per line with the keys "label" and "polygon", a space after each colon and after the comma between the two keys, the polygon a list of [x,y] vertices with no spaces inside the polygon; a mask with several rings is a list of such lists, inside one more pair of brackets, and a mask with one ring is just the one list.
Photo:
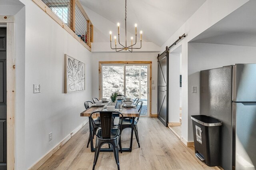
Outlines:
{"label": "backrest of the black metal chair at table's near end", "polygon": [[[94,113],[100,113],[102,138],[104,138],[104,139],[110,139],[111,138],[113,113],[119,114],[119,117],[120,117],[119,123],[120,123],[121,128],[122,128],[122,123],[123,123],[122,113],[120,113],[120,112],[111,112],[111,111],[95,111],[95,112],[91,113],[90,118],[92,120],[92,126],[93,126],[93,130],[94,130],[94,134],[96,134],[97,137],[99,137],[99,136],[98,136],[98,134],[96,133],[96,130],[95,130],[96,124],[95,124],[94,120],[92,119],[92,115]],[[121,130],[121,128],[119,128],[119,130]]]}

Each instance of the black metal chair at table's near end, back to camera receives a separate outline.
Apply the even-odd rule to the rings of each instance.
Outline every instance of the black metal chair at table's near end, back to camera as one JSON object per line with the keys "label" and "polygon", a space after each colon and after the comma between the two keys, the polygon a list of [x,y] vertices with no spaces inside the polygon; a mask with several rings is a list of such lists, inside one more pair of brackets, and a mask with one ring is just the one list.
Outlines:
{"label": "black metal chair at table's near end, back to camera", "polygon": [[[101,121],[101,129],[98,129],[96,132],[96,124],[94,120],[92,119],[92,115],[94,113],[100,113],[100,119]],[[119,114],[119,123],[118,127],[120,128],[112,128],[112,116],[113,114]],[[122,123],[123,123],[123,115],[120,112],[112,112],[112,111],[95,111],[90,115],[90,118],[92,120],[92,126],[94,133],[96,134],[96,147],[95,147],[95,154],[94,154],[94,162],[93,162],[93,168],[94,170],[95,165],[97,163],[99,153],[100,153],[100,148],[103,144],[110,144],[113,148],[114,151],[114,157],[116,160],[117,168],[120,170],[119,167],[119,156],[118,156],[118,143],[120,145],[120,149],[122,151],[122,146],[121,146],[121,141],[120,141],[120,135],[121,135],[121,128],[122,128]],[[122,152],[121,152],[122,153]]]}

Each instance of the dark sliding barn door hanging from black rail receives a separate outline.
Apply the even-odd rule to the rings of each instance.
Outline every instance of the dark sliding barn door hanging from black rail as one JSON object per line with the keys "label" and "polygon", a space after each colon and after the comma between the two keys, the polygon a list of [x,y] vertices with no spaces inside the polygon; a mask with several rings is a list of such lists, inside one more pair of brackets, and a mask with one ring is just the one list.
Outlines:
{"label": "dark sliding barn door hanging from black rail", "polygon": [[157,113],[158,119],[168,126],[168,60],[169,52],[166,50],[158,55],[158,97],[157,97]]}

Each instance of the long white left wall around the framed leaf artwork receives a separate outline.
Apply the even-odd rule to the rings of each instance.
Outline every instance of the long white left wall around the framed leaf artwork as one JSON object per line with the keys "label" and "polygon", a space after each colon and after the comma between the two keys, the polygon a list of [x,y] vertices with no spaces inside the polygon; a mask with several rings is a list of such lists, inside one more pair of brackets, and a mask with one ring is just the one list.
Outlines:
{"label": "long white left wall around the framed leaf artwork", "polygon": [[[34,2],[20,1],[25,7],[0,6],[0,15],[16,14],[15,161],[26,170],[87,121],[80,113],[92,99],[92,54]],[[64,53],[86,63],[86,91],[64,94]]]}

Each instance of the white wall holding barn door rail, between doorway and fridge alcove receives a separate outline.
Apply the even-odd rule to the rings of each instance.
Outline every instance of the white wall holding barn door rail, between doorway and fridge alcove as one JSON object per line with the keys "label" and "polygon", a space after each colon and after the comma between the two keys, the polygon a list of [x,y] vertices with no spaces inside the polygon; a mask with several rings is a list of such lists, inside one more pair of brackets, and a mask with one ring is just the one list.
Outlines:
{"label": "white wall holding barn door rail, between doorway and fridge alcove", "polygon": [[[190,130],[190,127],[188,127],[188,122],[190,121],[190,108],[188,106],[188,90],[190,90],[188,89],[188,42],[246,2],[248,0],[207,0],[161,46],[162,51],[164,51],[166,46],[174,43],[182,34],[186,34],[186,38],[170,49],[170,52],[172,52],[179,45],[182,45],[182,138],[186,141],[188,141],[188,131]],[[190,139],[189,141],[192,140]]]}

